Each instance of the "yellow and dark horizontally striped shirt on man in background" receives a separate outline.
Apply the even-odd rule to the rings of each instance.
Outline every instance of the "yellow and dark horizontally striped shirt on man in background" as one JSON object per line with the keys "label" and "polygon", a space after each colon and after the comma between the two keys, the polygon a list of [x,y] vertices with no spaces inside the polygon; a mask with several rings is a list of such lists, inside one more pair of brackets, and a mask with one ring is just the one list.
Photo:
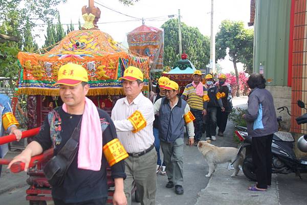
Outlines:
{"label": "yellow and dark horizontally striped shirt on man in background", "polygon": [[[203,90],[204,93],[203,95],[207,95],[207,89],[205,86],[203,86]],[[182,93],[182,95],[188,97],[188,104],[190,106],[190,108],[192,109],[200,109],[203,110],[204,109],[204,100],[203,100],[203,96],[198,96],[196,95],[196,89],[195,87],[192,85],[192,83],[188,84],[185,88],[184,91]],[[206,108],[206,107],[205,107]]]}

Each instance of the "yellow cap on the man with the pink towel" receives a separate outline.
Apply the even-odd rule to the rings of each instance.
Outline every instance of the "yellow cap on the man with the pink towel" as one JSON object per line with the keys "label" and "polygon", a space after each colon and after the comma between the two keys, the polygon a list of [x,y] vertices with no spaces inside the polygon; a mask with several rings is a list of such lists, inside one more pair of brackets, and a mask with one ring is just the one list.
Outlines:
{"label": "yellow cap on the man with the pink towel", "polygon": [[87,71],[81,65],[75,63],[67,63],[62,65],[58,72],[58,80],[54,85],[62,84],[75,86],[81,82],[87,82]]}

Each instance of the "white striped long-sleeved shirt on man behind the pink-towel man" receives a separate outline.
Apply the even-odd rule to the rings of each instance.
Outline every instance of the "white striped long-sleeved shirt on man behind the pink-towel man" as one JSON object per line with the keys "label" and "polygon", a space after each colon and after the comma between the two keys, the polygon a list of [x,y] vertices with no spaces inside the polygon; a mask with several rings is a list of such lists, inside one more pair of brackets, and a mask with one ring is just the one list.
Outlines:
{"label": "white striped long-sleeved shirt on man behind the pink-towel man", "polygon": [[[140,131],[133,133],[134,126],[127,120],[136,110],[146,119],[147,125]],[[119,99],[112,109],[111,119],[114,122],[117,136],[128,153],[138,153],[148,149],[155,137],[152,133],[152,123],[155,120],[151,101],[140,93],[131,104],[127,97]]]}

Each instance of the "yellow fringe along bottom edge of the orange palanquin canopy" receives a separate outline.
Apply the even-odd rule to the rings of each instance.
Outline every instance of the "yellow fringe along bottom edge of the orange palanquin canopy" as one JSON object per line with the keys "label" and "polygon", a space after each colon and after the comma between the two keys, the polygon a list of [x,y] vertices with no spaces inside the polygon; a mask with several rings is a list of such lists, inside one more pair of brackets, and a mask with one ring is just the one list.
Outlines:
{"label": "yellow fringe along bottom edge of the orange palanquin canopy", "polygon": [[[143,87],[143,91],[148,91],[149,86],[146,85]],[[28,88],[28,87],[20,87],[17,90],[17,95],[41,95],[41,96],[58,96],[59,89],[44,89],[44,88]],[[102,96],[102,95],[125,95],[122,87],[110,87],[110,88],[90,88],[87,96]]]}

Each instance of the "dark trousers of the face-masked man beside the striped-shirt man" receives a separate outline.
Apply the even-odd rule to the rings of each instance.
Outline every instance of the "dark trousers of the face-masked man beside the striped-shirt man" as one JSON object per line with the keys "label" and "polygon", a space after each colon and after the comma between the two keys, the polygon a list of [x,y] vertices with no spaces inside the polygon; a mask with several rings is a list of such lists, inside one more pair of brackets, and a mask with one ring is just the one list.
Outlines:
{"label": "dark trousers of the face-masked man beside the striped-shirt man", "polygon": [[207,138],[216,135],[216,111],[217,107],[207,107],[207,115],[205,117]]}

